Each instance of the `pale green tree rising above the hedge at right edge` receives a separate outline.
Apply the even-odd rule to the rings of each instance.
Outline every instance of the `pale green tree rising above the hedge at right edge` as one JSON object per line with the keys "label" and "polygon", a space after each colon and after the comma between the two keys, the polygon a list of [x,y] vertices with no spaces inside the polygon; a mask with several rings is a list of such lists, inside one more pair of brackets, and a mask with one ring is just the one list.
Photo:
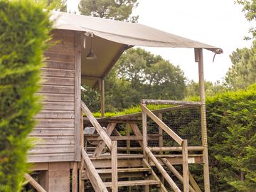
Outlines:
{"label": "pale green tree rising above the hedge at right edge", "polygon": [[256,82],[256,41],[251,48],[235,50],[230,59],[233,63],[225,75],[225,81],[232,88],[245,88]]}

